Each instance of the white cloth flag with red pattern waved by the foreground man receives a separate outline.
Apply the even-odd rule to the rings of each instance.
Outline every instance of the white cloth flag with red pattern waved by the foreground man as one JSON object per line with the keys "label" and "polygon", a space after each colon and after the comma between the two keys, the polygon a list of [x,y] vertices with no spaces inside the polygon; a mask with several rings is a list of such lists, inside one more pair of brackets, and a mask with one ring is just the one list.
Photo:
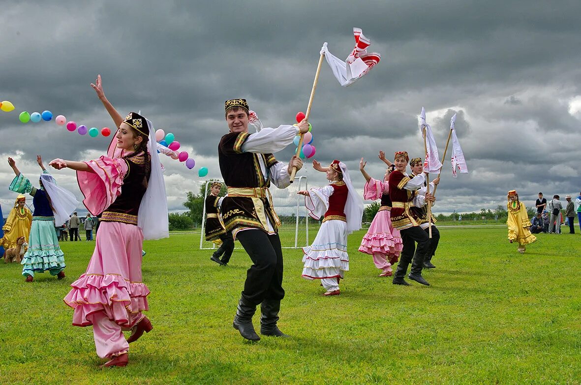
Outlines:
{"label": "white cloth flag with red pattern waved by the foreground man", "polygon": [[361,79],[366,73],[379,63],[381,55],[376,52],[367,53],[367,47],[370,46],[371,41],[366,38],[361,32],[361,28],[353,28],[353,35],[355,37],[355,48],[345,61],[339,59],[329,52],[327,49],[327,42],[321,48],[321,55],[325,55],[329,67],[333,71],[336,79],[343,87],[352,85],[357,80]]}

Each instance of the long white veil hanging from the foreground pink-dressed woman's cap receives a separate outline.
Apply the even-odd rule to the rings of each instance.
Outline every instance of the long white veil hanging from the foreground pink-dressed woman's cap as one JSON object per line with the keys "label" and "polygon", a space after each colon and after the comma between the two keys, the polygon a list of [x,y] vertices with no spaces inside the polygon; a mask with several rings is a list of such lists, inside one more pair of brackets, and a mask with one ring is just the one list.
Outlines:
{"label": "long white veil hanging from the foreground pink-dressed woman's cap", "polygon": [[151,174],[144,197],[139,205],[137,226],[143,231],[144,239],[160,239],[170,236],[167,218],[166,184],[163,181],[162,163],[159,161],[156,147],[152,149],[155,141],[155,129],[149,119],[149,141],[147,149],[151,159]]}

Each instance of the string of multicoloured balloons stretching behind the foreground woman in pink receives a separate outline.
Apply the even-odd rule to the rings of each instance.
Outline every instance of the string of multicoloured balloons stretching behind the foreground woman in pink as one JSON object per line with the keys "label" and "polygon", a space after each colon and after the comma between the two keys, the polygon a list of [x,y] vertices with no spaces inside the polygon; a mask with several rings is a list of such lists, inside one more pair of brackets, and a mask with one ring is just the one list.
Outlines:
{"label": "string of multicoloured balloons stretching behind the foreground woman in pink", "polygon": [[[12,102],[7,100],[0,102],[0,110],[2,110],[3,112],[10,112],[14,109],[15,107],[12,104]],[[52,120],[52,118],[53,114],[49,110],[44,110],[42,111],[42,113],[39,112],[28,113],[27,111],[23,111],[18,116],[18,119],[20,120],[21,123],[28,122],[38,123],[41,120],[49,122]],[[89,137],[91,138],[98,137],[99,133],[101,133],[103,137],[108,137],[111,135],[111,129],[109,129],[109,127],[103,127],[101,130],[99,130],[97,127],[91,127],[90,129],[88,129],[87,126],[85,126],[84,124],[77,126],[77,123],[74,122],[73,120],[67,122],[66,117],[64,117],[63,115],[56,116],[55,122],[59,126],[65,126],[66,129],[70,132],[77,131],[78,134],[83,136],[89,134]],[[157,141],[156,143],[157,152],[163,152],[163,154],[170,156],[172,159],[176,159],[182,163],[185,163],[185,166],[188,167],[188,169],[190,170],[196,166],[196,161],[194,161],[193,158],[189,157],[187,151],[177,152],[178,149],[180,149],[181,144],[180,142],[175,140],[174,134],[172,133],[166,134],[164,130],[159,129],[155,131],[155,140]],[[198,175],[200,177],[205,177],[207,174],[208,174],[207,167],[200,167],[200,169],[198,170]]]}

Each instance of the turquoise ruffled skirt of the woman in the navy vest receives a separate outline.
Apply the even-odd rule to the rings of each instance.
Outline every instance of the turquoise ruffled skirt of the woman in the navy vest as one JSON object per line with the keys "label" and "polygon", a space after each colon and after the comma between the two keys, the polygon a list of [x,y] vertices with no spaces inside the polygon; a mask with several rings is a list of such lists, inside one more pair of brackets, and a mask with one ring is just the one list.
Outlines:
{"label": "turquoise ruffled skirt of the woman in the navy vest", "polygon": [[22,259],[22,275],[33,276],[46,270],[55,276],[64,267],[64,253],[56,237],[52,217],[33,217],[33,224],[28,237],[28,251]]}

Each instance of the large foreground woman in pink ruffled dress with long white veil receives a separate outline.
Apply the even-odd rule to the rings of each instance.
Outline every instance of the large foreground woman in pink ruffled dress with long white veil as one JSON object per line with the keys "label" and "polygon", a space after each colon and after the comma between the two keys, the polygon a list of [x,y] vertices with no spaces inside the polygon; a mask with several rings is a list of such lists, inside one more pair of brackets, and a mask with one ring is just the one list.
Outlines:
{"label": "large foreground woman in pink ruffled dress with long white veil", "polygon": [[[168,237],[167,201],[152,123],[135,112],[123,119],[105,98],[101,76],[91,85],[119,129],[107,156],[50,163],[76,170],[85,207],[101,214],[95,251],[64,302],[74,309],[74,326],[93,326],[97,355],[109,359],[102,367],[125,366],[129,343],[153,329],[142,313],[149,310],[142,246],[144,238]],[[123,330],[131,330],[127,340]]]}

